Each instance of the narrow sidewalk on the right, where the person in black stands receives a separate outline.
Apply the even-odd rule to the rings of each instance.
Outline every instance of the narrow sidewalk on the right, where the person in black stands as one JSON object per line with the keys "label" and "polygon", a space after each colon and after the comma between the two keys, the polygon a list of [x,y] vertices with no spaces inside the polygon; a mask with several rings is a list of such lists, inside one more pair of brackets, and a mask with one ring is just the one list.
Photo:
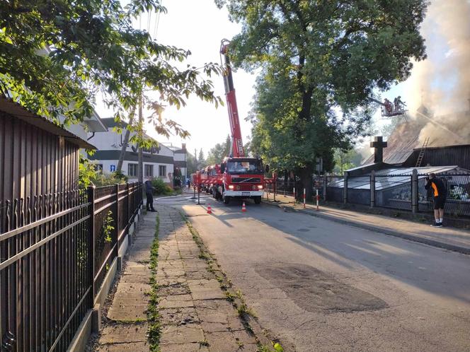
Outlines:
{"label": "narrow sidewalk on the right, where the person in black stands", "polygon": [[319,211],[316,211],[316,206],[306,204],[306,208],[304,209],[303,204],[294,204],[294,198],[292,196],[276,194],[276,200],[278,201],[276,203],[272,202],[272,199],[273,194],[270,194],[270,201],[268,202],[263,199],[263,202],[271,206],[278,206],[282,209],[307,213],[312,216],[327,218],[367,230],[378,231],[386,235],[401,237],[406,240],[420,242],[446,250],[470,254],[470,232],[466,230],[446,227],[432,228],[429,224],[338,209],[331,206],[321,205]]}

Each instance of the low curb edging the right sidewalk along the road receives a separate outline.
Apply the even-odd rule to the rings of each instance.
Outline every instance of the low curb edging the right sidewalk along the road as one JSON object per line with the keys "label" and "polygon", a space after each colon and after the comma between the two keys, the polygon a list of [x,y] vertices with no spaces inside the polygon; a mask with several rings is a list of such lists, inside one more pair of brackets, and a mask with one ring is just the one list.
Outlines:
{"label": "low curb edging the right sidewalk along the road", "polygon": [[387,230],[387,229],[384,229],[384,228],[379,228],[379,227],[374,226],[374,225],[367,225],[365,223],[355,223],[355,222],[352,222],[352,221],[343,220],[343,219],[340,219],[340,218],[336,218],[335,216],[330,216],[330,215],[323,214],[323,213],[312,213],[311,211],[304,211],[303,209],[294,209],[292,206],[288,206],[288,205],[283,206],[283,205],[280,205],[280,204],[272,204],[272,203],[268,203],[267,201],[263,201],[263,204],[266,204],[268,206],[275,206],[275,207],[280,208],[280,209],[289,209],[290,211],[295,211],[297,213],[303,213],[303,214],[306,214],[306,215],[309,215],[309,216],[317,216],[319,218],[326,218],[326,219],[331,220],[331,221],[336,221],[337,223],[343,223],[345,225],[355,226],[356,228],[364,228],[365,230],[371,230],[371,231],[374,231],[374,232],[384,233],[385,235],[389,235],[389,236],[400,237],[400,238],[403,238],[404,240],[410,240],[410,241],[413,241],[413,242],[423,243],[424,245],[430,245],[432,247],[442,248],[444,250],[451,250],[453,252],[459,252],[459,253],[462,253],[462,254],[470,254],[470,247],[462,247],[462,246],[459,246],[459,245],[451,245],[451,244],[446,243],[446,242],[430,240],[429,238],[415,236],[415,235],[409,235],[409,234],[406,234],[406,233],[401,233],[399,231]]}

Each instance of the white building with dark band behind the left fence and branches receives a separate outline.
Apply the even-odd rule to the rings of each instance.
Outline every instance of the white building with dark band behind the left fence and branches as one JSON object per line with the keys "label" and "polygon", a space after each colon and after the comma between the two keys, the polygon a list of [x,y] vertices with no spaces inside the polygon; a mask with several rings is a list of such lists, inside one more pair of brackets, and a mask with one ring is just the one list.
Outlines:
{"label": "white building with dark band behind the left fence and branches", "polygon": [[[113,172],[117,168],[127,124],[125,122],[120,124],[122,133],[119,134],[113,130],[117,127],[113,118],[101,119],[101,121],[108,131],[97,133],[91,139],[97,150],[89,159],[96,160],[96,164],[99,165],[98,168],[101,168],[103,172]],[[133,134],[134,132],[131,132],[130,136]],[[175,168],[180,168],[182,175],[186,173],[185,150],[183,148],[173,151],[160,143],[158,148],[143,151],[142,161],[144,179],[147,177],[160,177],[164,182],[171,184]],[[137,181],[138,163],[139,153],[137,147],[129,143],[122,163],[122,173],[129,177],[130,182]]]}

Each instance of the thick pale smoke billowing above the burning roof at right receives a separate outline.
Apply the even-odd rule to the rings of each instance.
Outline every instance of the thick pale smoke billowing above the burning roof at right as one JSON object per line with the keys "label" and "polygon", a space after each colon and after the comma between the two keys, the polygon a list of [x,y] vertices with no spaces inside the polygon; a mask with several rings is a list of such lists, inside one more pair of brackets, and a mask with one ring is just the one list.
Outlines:
{"label": "thick pale smoke billowing above the burning roof at right", "polygon": [[470,143],[470,0],[432,0],[421,34],[428,59],[415,62],[406,88],[411,115],[423,104],[432,117],[420,141]]}

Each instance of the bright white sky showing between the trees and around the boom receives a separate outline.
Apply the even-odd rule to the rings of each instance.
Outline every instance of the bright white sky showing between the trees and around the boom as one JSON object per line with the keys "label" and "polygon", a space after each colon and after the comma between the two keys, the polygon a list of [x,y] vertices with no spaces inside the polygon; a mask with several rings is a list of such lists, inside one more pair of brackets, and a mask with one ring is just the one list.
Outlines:
{"label": "bright white sky showing between the trees and around the boom", "polygon": [[[161,13],[158,18],[155,14],[152,14],[150,20],[147,16],[143,16],[136,20],[134,25],[136,28],[149,29],[151,35],[162,44],[190,50],[191,55],[186,63],[191,66],[200,67],[210,61],[219,63],[220,41],[223,38],[230,39],[239,33],[241,29],[239,24],[230,22],[225,8],[219,9],[215,6],[214,0],[163,0],[162,4],[167,8],[168,13]],[[431,40],[427,43],[428,55],[440,54],[442,56],[442,52],[445,52],[445,50],[438,45],[438,38],[431,37],[428,39]],[[225,100],[222,77],[214,76],[212,81],[216,95]],[[242,69],[234,71],[234,85],[244,143],[248,141],[251,132],[251,123],[246,122],[244,119],[251,110],[251,101],[255,94],[255,81],[255,74],[245,72]],[[406,102],[406,94],[409,94],[414,87],[412,80],[400,83],[388,92],[382,93],[382,98],[393,101],[396,96],[401,95],[402,100]],[[418,98],[415,95],[413,99],[417,100]],[[110,117],[112,115],[112,112],[106,110],[103,105],[98,104],[97,110],[101,117]],[[222,143],[229,134],[227,107],[219,106],[216,108],[211,103],[202,102],[195,96],[190,97],[187,105],[181,107],[180,110],[167,107],[164,111],[164,117],[181,124],[190,132],[190,137],[185,140],[180,139],[178,136],[171,136],[170,139],[166,139],[156,134],[156,131],[150,126],[147,128],[147,134],[161,143],[171,143],[173,146],[186,143],[190,153],[194,153],[195,148],[199,153],[202,148],[205,156],[207,156],[210,148],[216,143]],[[380,113],[377,111],[374,116],[374,127],[381,129],[388,123],[389,121],[381,119]],[[368,140],[363,141],[362,146],[367,144]]]}

